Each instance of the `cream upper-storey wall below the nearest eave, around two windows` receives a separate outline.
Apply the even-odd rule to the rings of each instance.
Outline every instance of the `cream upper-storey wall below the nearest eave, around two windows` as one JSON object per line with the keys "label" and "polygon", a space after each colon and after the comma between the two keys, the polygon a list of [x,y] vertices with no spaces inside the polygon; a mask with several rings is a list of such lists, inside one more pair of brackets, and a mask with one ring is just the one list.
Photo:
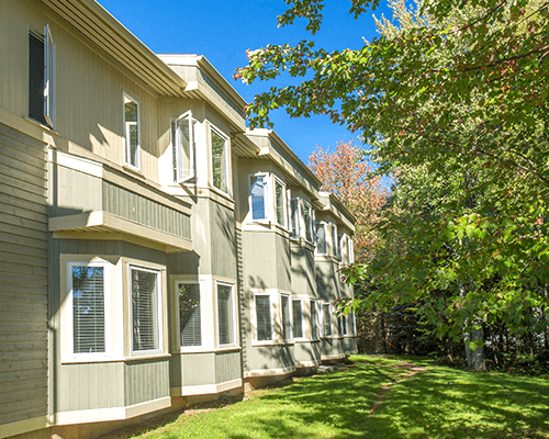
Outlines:
{"label": "cream upper-storey wall below the nearest eave, around two windows", "polygon": [[[0,109],[27,117],[29,29],[49,24],[55,42],[55,146],[123,165],[123,92],[139,103],[142,175],[158,180],[158,98],[122,65],[92,48],[36,1],[2,1]],[[34,122],[26,125],[32,130]],[[22,125],[23,127],[25,124]],[[19,128],[19,127],[18,127]],[[91,155],[90,155],[91,153]]]}

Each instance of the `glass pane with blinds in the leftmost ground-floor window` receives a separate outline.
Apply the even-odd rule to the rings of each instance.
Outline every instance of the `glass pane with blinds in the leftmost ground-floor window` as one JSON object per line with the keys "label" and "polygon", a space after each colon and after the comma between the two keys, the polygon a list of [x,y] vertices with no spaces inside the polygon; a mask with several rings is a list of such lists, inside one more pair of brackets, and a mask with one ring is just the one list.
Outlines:
{"label": "glass pane with blinds in the leftmost ground-floor window", "polygon": [[74,352],[104,352],[103,267],[72,267]]}

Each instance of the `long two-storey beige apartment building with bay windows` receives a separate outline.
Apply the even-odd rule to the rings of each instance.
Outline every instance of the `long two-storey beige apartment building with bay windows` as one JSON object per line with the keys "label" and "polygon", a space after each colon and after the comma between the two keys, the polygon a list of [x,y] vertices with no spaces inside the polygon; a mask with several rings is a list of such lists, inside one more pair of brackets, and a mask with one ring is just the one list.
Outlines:
{"label": "long two-storey beige apartment building with bay windows", "polygon": [[1,1],[0,55],[0,438],[93,437],[356,351],[334,305],[355,218],[204,57],[93,0]]}

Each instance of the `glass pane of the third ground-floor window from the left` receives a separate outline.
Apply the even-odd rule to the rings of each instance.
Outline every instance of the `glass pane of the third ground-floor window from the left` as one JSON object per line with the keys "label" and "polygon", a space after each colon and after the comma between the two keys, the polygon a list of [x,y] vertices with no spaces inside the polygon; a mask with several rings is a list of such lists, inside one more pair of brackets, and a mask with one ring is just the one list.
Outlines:
{"label": "glass pane of the third ground-floor window from the left", "polygon": [[180,283],[178,293],[181,346],[201,346],[200,285],[198,283]]}

